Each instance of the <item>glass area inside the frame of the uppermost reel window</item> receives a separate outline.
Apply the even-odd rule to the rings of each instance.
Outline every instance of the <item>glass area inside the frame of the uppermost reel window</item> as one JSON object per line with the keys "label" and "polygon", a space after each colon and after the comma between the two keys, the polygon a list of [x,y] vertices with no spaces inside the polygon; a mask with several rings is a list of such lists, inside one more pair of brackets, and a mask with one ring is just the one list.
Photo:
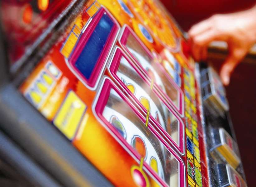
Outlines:
{"label": "glass area inside the frame of the uppermost reel window", "polygon": [[132,34],[129,34],[127,38],[126,47],[140,65],[148,72],[149,76],[154,79],[154,82],[169,96],[174,105],[179,108],[178,91],[166,78],[164,73],[161,72],[156,62],[154,62],[154,59],[149,56]]}

